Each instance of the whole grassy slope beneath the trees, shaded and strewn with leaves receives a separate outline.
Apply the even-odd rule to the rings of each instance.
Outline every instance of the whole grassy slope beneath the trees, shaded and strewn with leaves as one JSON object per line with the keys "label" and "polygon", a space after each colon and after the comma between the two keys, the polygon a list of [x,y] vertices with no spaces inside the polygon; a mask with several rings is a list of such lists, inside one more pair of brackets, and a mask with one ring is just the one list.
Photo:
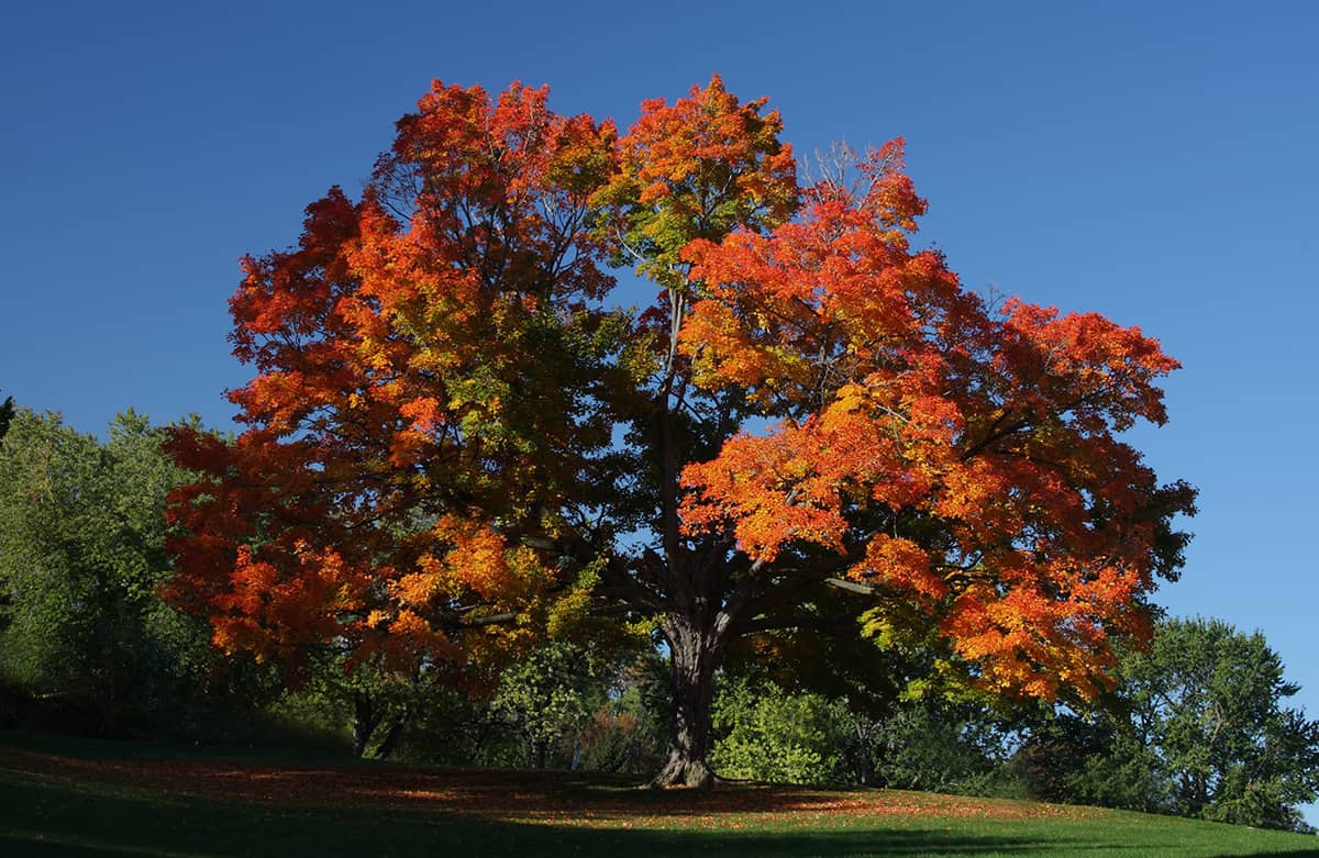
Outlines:
{"label": "whole grassy slope beneath the trees, shaded and strewn with leaves", "polygon": [[1282,832],[898,791],[636,789],[0,733],[0,855],[1316,855]]}

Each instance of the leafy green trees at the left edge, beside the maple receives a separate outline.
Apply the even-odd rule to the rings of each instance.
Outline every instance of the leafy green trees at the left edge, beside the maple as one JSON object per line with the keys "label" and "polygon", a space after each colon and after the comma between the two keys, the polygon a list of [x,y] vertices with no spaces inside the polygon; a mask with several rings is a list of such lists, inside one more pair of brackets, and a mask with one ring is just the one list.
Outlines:
{"label": "leafy green trees at the left edge, beside the maple", "polygon": [[103,734],[195,733],[241,687],[204,623],[165,606],[162,510],[189,474],[164,456],[161,430],[129,410],[108,440],[58,414],[15,413],[0,443],[0,677],[47,726]]}

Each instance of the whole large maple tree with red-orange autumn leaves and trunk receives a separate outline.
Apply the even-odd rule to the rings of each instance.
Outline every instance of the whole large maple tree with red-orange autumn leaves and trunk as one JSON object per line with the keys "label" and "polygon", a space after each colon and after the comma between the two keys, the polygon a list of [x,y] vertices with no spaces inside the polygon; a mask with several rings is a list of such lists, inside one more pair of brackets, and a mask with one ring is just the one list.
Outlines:
{"label": "whole large maple tree with red-orange autumn leaves and trunk", "polygon": [[[435,83],[361,199],[244,262],[247,430],[179,430],[170,597],[295,666],[456,684],[595,614],[667,644],[657,783],[708,784],[732,641],[834,622],[993,693],[1093,697],[1194,490],[1155,340],[966,291],[902,142],[814,182],[716,76],[628,133]],[[630,311],[607,266],[657,290]],[[840,602],[831,593],[851,598]],[[828,610],[826,610],[826,608]]]}

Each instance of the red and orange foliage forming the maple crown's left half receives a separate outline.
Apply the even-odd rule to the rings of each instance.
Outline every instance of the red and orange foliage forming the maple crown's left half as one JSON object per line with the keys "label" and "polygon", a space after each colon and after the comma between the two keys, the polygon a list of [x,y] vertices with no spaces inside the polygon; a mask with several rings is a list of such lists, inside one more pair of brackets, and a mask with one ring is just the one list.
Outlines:
{"label": "red and orange foliage forming the maple crown's left half", "polygon": [[487,622],[546,609],[555,567],[521,538],[562,527],[609,440],[582,414],[612,348],[583,224],[612,136],[543,88],[437,82],[361,202],[331,188],[295,249],[244,260],[232,340],[257,376],[230,398],[251,428],[171,442],[202,478],[173,497],[169,593],[219,646],[417,670],[525,638]]}

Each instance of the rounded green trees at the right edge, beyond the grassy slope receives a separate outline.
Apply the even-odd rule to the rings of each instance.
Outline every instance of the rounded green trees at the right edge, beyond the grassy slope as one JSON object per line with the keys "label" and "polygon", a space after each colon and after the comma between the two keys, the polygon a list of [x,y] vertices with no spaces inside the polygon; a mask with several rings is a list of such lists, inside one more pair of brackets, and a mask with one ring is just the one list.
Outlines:
{"label": "rounded green trees at the right edge, beyond the grassy slope", "polygon": [[1216,619],[1161,623],[1128,652],[1108,716],[1051,713],[1017,767],[1053,800],[1306,829],[1319,795],[1319,722],[1283,706],[1298,688],[1258,631]]}

